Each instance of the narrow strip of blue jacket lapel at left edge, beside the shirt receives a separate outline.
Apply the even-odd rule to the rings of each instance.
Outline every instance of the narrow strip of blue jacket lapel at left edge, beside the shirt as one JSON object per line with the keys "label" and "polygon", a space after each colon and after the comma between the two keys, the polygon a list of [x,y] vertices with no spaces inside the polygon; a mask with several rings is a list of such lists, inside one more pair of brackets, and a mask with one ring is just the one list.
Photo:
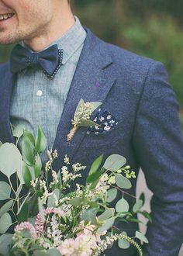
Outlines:
{"label": "narrow strip of blue jacket lapel at left edge, beside the shirt", "polygon": [[[8,67],[7,67],[8,66]],[[15,81],[14,75],[9,71],[9,64],[2,67],[0,72],[0,140],[5,143],[15,143],[15,139],[12,136],[12,130],[10,126],[10,100],[12,95],[12,85]]]}

